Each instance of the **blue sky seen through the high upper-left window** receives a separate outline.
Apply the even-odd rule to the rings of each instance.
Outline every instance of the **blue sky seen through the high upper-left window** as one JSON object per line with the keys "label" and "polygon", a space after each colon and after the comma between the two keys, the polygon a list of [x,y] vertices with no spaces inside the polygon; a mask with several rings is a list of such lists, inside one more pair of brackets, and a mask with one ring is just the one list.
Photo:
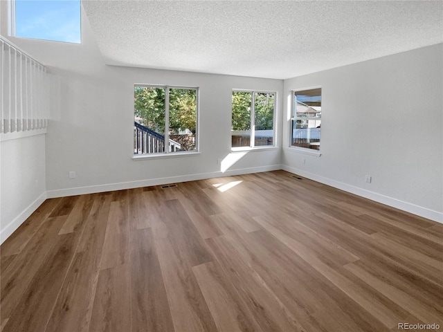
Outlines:
{"label": "blue sky seen through the high upper-left window", "polygon": [[17,37],[80,43],[80,0],[15,0]]}

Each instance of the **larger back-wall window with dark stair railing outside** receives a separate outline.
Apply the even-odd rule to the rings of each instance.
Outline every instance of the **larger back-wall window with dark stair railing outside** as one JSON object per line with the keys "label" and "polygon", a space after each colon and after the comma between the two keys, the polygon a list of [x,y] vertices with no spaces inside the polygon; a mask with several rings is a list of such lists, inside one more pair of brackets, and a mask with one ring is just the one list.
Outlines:
{"label": "larger back-wall window with dark stair railing outside", "polygon": [[134,87],[134,154],[197,151],[198,88]]}

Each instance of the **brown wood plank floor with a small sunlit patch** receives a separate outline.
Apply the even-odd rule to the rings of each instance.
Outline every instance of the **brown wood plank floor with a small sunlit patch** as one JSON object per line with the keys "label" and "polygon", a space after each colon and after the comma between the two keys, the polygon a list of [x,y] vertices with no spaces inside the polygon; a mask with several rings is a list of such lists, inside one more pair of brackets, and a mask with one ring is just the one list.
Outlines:
{"label": "brown wood plank floor with a small sunlit patch", "polygon": [[1,332],[443,329],[443,225],[291,175],[46,200],[0,247]]}

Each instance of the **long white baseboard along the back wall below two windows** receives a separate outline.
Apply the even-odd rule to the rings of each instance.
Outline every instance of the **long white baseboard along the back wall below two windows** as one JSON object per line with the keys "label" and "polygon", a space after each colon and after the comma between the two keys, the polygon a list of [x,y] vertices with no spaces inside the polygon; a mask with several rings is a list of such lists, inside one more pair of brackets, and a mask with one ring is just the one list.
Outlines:
{"label": "long white baseboard along the back wall below two windows", "polygon": [[151,185],[165,185],[167,183],[180,183],[186,181],[196,181],[203,180],[206,178],[219,178],[221,176],[233,176],[240,174],[250,174],[250,173],[259,173],[259,172],[268,172],[275,171],[278,169],[282,169],[281,165],[269,165],[263,167],[249,167],[242,169],[232,169],[226,172],[210,172],[210,173],[199,173],[199,174],[190,174],[183,176],[170,176],[165,178],[152,178],[149,180],[139,180],[139,181],[129,181],[129,182],[120,182],[120,183],[111,183],[107,185],[91,185],[87,187],[75,187],[69,189],[60,189],[60,190],[48,190],[48,199],[53,199],[56,197],[66,197],[66,196],[75,196],[75,195],[83,195],[83,194],[93,194],[96,192],[110,192],[113,190],[124,190],[131,189],[137,187],[149,187]]}

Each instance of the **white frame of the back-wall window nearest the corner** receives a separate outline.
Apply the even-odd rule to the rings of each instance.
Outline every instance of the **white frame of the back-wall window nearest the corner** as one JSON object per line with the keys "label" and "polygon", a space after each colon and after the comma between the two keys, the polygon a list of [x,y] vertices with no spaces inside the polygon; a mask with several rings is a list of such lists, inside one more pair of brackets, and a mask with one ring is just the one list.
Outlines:
{"label": "white frame of the back-wall window nearest the corner", "polygon": [[[231,133],[231,151],[247,151],[247,150],[260,150],[260,149],[275,149],[277,145],[275,144],[277,132],[275,128],[275,123],[277,122],[277,104],[278,104],[278,93],[277,91],[270,90],[247,90],[247,89],[233,89],[231,92],[231,126],[232,126],[232,93],[233,92],[247,92],[251,93],[251,138],[249,140],[248,147],[233,147],[232,146],[232,133]],[[274,109],[273,109],[273,139],[272,145],[259,145],[255,147],[255,96],[254,93],[273,93],[275,95],[274,98]]]}

